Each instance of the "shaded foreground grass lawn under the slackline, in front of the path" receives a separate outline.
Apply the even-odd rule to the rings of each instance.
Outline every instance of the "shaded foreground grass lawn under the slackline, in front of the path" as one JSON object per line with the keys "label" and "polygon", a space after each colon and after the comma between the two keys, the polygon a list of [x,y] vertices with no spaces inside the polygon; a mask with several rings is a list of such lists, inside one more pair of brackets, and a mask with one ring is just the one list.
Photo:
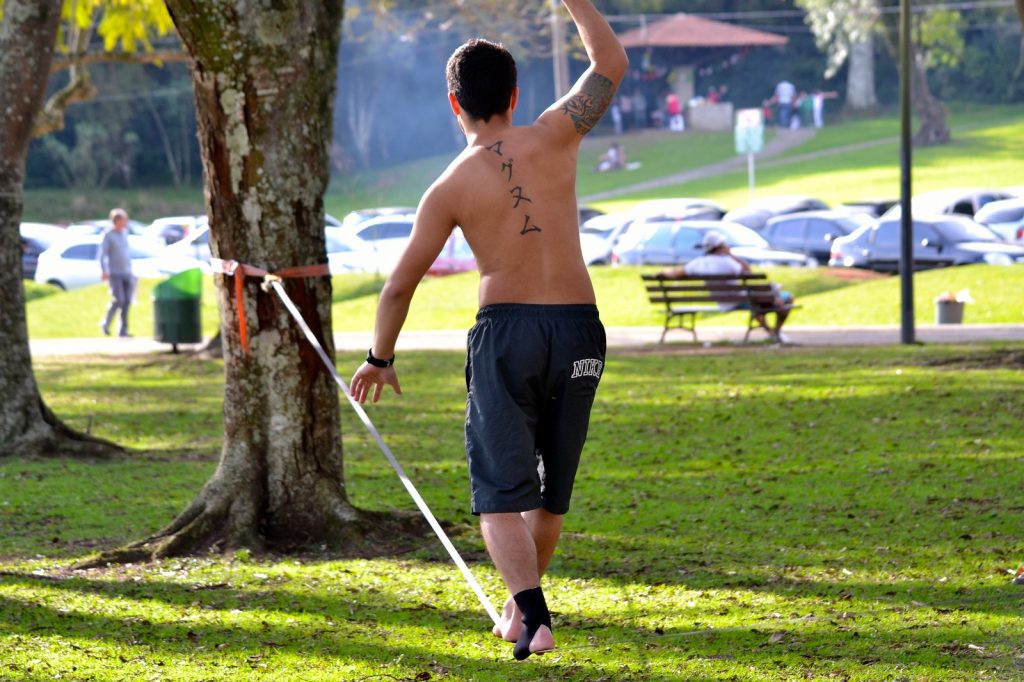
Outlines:
{"label": "shaded foreground grass lawn under the slackline, in front of the path", "polygon": [[[371,414],[499,600],[466,510],[462,363],[408,353],[406,395]],[[610,356],[546,579],[561,648],[516,664],[433,540],[69,570],[213,471],[222,367],[43,359],[55,411],[135,452],[0,461],[0,678],[1020,679],[1022,366],[1019,344]],[[352,500],[411,509],[343,424]]]}

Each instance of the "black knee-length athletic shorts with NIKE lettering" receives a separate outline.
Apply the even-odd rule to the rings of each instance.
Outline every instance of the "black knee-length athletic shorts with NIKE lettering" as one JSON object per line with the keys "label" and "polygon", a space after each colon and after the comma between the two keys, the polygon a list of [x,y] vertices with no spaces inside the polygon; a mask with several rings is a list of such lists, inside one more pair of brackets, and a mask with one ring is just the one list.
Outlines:
{"label": "black knee-length athletic shorts with NIKE lettering", "polygon": [[474,514],[568,511],[605,345],[594,305],[480,309],[466,359]]}

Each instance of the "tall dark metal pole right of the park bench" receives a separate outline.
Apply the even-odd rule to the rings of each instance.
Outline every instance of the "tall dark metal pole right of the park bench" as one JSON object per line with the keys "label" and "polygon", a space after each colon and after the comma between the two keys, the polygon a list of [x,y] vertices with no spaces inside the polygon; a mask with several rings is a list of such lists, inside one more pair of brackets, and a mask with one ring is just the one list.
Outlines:
{"label": "tall dark metal pole right of the park bench", "polygon": [[900,0],[900,341],[914,343],[913,214],[910,211],[910,0]]}

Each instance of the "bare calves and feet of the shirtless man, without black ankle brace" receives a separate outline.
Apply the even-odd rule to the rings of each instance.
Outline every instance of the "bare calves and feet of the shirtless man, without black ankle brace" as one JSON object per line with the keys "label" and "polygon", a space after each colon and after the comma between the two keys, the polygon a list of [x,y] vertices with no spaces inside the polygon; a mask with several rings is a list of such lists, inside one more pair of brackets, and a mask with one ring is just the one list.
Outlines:
{"label": "bare calves and feet of the shirtless man, without black ankle brace", "polygon": [[[518,595],[540,587],[541,574],[551,561],[558,542],[561,516],[543,510],[523,514],[481,514],[480,530],[509,592]],[[511,604],[505,604],[502,622],[495,634],[518,641],[522,635],[522,616],[515,601],[511,598],[510,601]],[[554,646],[551,629],[542,625],[528,643],[528,651],[547,651]]]}

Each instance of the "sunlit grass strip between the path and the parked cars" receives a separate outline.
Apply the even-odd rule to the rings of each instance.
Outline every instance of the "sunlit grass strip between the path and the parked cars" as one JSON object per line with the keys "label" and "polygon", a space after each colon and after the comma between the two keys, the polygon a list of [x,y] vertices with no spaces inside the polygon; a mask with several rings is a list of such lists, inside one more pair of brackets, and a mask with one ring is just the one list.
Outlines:
{"label": "sunlit grass strip between the path and the parked cars", "polygon": [[[641,272],[657,268],[595,267],[591,269],[601,318],[608,327],[659,326],[659,308],[647,302]],[[864,274],[864,273],[861,273]],[[859,327],[899,324],[899,280],[895,276],[851,273],[831,268],[768,270],[798,299],[802,308],[788,323],[808,327]],[[969,289],[975,303],[966,309],[966,324],[1024,323],[1024,266],[972,265],[919,272],[914,278],[914,313],[918,324],[935,322],[934,298],[943,291]],[[383,281],[375,275],[334,278],[334,329],[336,332],[370,332]],[[409,330],[468,329],[477,310],[475,272],[425,281],[406,323]],[[141,336],[153,334],[152,292],[155,282],[139,284],[131,326]],[[27,283],[29,335],[34,339],[98,336],[97,321],[109,294],[103,285],[72,292]],[[212,336],[219,327],[213,283],[203,289],[203,331]],[[743,326],[745,313],[706,316],[700,324]]]}

